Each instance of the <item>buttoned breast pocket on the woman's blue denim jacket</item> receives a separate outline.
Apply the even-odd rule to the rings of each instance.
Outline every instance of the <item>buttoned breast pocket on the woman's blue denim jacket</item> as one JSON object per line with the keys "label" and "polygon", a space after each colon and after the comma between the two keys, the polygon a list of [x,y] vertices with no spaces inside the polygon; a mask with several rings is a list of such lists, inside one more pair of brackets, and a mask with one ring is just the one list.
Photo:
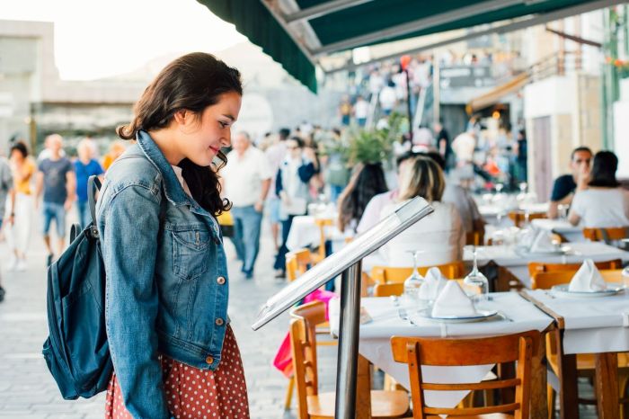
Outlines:
{"label": "buttoned breast pocket on the woman's blue denim jacket", "polygon": [[175,227],[173,271],[184,280],[194,280],[208,271],[208,246],[211,235],[206,227]]}

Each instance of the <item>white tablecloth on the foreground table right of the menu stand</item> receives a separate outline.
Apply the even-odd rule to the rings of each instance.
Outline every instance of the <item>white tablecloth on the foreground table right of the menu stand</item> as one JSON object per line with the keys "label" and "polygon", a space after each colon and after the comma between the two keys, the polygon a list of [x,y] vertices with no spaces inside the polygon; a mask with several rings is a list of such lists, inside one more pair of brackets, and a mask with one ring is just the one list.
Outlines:
{"label": "white tablecloth on the foreground table right of the menu stand", "polygon": [[[493,293],[492,301],[486,304],[487,309],[497,309],[508,316],[505,319],[496,316],[491,320],[465,324],[443,324],[432,322],[412,314],[415,325],[404,321],[398,316],[398,308],[388,298],[361,299],[372,322],[360,325],[359,352],[374,365],[396,379],[403,387],[410,388],[408,366],[397,363],[391,351],[391,336],[488,336],[497,334],[513,334],[527,330],[544,330],[553,319],[537,309],[526,299],[513,292]],[[330,325],[332,333],[338,334],[339,308],[338,300],[330,304]],[[492,370],[492,365],[472,367],[422,367],[424,379],[434,383],[465,383],[480,382]],[[426,392],[429,406],[454,407],[467,394],[466,391]]]}

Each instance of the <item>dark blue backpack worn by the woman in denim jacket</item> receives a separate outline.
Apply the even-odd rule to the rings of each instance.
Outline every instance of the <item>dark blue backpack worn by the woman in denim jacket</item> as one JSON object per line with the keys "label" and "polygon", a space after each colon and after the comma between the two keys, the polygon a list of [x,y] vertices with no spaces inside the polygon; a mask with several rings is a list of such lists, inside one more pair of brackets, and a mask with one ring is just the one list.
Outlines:
{"label": "dark blue backpack worn by the woman in denim jacket", "polygon": [[72,226],[71,243],[48,269],[49,338],[43,354],[65,399],[107,389],[113,364],[105,330],[105,267],[96,227],[96,176],[88,180],[92,224]]}

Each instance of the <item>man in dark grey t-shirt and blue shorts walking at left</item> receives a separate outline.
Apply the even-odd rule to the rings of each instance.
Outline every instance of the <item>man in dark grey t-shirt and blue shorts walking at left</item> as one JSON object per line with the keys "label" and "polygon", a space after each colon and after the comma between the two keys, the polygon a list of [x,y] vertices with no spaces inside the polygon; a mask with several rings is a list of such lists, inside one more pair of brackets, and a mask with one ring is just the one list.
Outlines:
{"label": "man in dark grey t-shirt and blue shorts walking at left", "polygon": [[44,244],[48,251],[47,266],[52,263],[55,252],[50,244],[50,224],[54,220],[57,227],[58,254],[66,245],[66,213],[75,201],[76,178],[74,167],[69,159],[61,154],[63,138],[52,134],[46,138],[48,157],[40,161],[35,183],[35,208],[39,208],[43,192],[43,227]]}

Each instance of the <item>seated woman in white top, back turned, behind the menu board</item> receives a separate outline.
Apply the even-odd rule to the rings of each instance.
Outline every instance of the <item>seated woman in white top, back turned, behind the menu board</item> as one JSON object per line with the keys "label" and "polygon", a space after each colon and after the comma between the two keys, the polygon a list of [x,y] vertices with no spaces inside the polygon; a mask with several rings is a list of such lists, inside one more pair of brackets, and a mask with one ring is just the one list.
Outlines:
{"label": "seated woman in white top, back turned, behind the menu board", "polygon": [[461,260],[465,233],[456,208],[441,202],[446,187],[443,171],[430,157],[417,156],[403,166],[397,203],[385,207],[381,218],[394,212],[403,201],[421,196],[434,212],[394,237],[381,249],[388,266],[412,266],[410,251],[421,251],[419,266],[434,266]]}

